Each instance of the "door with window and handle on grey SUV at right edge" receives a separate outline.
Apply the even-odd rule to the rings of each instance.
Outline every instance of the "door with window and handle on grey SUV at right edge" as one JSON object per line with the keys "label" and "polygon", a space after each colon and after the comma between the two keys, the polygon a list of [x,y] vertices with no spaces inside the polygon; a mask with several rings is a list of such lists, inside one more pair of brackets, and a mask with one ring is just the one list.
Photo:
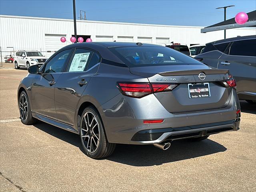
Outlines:
{"label": "door with window and handle on grey SUV at right edge", "polygon": [[237,92],[256,92],[256,39],[232,42],[219,58],[218,68],[228,69],[236,80]]}

